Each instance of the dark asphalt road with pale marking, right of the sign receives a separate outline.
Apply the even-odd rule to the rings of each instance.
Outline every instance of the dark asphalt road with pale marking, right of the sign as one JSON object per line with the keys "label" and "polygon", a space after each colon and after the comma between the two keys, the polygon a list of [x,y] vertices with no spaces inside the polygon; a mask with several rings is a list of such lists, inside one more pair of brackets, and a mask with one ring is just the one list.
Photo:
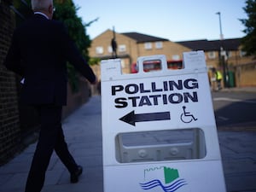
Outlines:
{"label": "dark asphalt road with pale marking, right of the sign", "polygon": [[256,131],[256,94],[212,92],[216,124],[219,130]]}

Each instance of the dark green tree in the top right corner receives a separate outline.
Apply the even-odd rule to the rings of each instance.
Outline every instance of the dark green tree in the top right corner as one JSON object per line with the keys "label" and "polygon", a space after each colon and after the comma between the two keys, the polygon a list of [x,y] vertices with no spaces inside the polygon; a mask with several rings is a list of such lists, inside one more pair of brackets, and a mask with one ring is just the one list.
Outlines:
{"label": "dark green tree in the top right corner", "polygon": [[247,55],[256,56],[256,0],[247,0],[244,11],[247,13],[247,19],[241,19],[241,23],[246,26],[242,32],[247,35],[241,39],[242,50]]}

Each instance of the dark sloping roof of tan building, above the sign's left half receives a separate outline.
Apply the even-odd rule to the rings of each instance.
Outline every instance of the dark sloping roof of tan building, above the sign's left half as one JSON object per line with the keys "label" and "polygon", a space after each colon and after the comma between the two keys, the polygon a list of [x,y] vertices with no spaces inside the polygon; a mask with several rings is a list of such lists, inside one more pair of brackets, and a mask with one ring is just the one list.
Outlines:
{"label": "dark sloping roof of tan building, above the sign's left half", "polygon": [[156,41],[169,41],[167,38],[157,38],[150,35],[145,35],[143,33],[138,32],[124,32],[121,33],[122,35],[125,35],[126,37],[132,38],[137,41],[138,43],[145,43],[145,42],[156,42]]}

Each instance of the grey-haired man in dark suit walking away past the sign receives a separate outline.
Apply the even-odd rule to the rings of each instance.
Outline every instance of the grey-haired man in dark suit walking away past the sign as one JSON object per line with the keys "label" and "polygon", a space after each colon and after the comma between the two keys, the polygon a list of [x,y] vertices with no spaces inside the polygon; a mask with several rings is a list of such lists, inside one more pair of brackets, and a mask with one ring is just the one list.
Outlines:
{"label": "grey-haired man in dark suit walking away past the sign", "polygon": [[20,100],[34,106],[41,129],[38,145],[26,181],[26,192],[39,192],[50,156],[55,150],[70,172],[72,183],[79,181],[82,166],[69,153],[61,128],[62,106],[67,104],[67,67],[69,61],[91,84],[97,79],[61,22],[51,20],[52,0],[32,0],[34,15],[18,27],[4,65],[24,78]]}

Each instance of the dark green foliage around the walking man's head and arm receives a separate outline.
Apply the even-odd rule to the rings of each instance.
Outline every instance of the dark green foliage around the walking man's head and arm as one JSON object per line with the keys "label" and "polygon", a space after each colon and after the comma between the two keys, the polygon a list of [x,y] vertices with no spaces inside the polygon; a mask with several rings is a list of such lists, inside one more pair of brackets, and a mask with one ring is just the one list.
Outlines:
{"label": "dark green foliage around the walking man's head and arm", "polygon": [[[82,19],[77,15],[79,8],[76,8],[73,0],[54,0],[55,14],[54,20],[61,20],[65,26],[70,38],[73,39],[77,45],[80,53],[83,55],[89,64],[95,64],[94,61],[90,61],[88,48],[90,47],[90,37],[86,34],[86,27],[90,26],[96,20],[90,21],[88,24],[83,24]],[[24,19],[32,15],[31,1],[30,0],[14,0],[14,7],[18,11],[16,14],[17,25],[20,25]],[[71,84],[73,91],[79,90],[79,75],[74,67],[67,63],[67,73],[69,83]]]}

